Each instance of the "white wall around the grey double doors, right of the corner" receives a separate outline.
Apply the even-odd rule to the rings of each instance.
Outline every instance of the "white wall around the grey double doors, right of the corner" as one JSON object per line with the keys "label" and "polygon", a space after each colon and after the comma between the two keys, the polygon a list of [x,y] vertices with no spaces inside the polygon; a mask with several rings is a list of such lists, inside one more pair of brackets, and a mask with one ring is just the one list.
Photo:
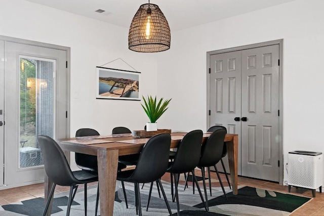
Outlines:
{"label": "white wall around the grey double doors, right of the corner", "polygon": [[323,8],[322,0],[297,0],[173,32],[157,65],[158,95],[173,98],[159,124],[206,131],[206,53],[284,38],[284,160],[293,150],[324,152]]}

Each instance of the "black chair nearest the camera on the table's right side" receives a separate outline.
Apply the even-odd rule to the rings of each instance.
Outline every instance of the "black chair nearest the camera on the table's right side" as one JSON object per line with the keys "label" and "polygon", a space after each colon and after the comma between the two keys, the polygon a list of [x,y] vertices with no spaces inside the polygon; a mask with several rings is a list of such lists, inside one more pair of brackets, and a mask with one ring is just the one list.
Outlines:
{"label": "black chair nearest the camera on the table's right side", "polygon": [[168,211],[172,215],[166,194],[160,178],[168,168],[169,150],[171,144],[170,134],[159,134],[150,138],[144,145],[138,158],[135,169],[120,171],[117,180],[135,183],[136,210],[142,215],[139,183],[157,181],[166,202]]}

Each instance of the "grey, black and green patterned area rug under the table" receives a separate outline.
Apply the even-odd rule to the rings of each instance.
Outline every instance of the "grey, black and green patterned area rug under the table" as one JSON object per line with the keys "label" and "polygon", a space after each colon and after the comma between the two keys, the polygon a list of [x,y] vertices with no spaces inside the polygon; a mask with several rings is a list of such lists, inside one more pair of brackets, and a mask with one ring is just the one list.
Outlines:
{"label": "grey, black and green patterned area rug under the table", "polygon": [[[117,181],[115,192],[115,203],[113,215],[136,215],[134,185],[125,183],[127,190],[127,200],[129,208],[126,208],[123,190],[120,182]],[[171,210],[177,214],[177,205],[172,202],[170,183],[163,182]],[[145,184],[141,192],[141,203],[143,215],[165,216],[169,215],[163,198],[159,198],[156,184],[153,186],[152,197],[148,211],[146,204],[148,199],[150,184]],[[192,194],[192,187],[189,186],[185,191],[184,187],[179,185],[179,200],[181,215],[289,215],[299,208],[310,198],[283,194],[273,191],[262,190],[258,188],[241,186],[238,195],[233,195],[228,187],[225,187],[228,201],[225,199],[221,188],[212,188],[213,196],[208,196],[210,212],[206,212],[203,203],[201,203],[198,191]],[[88,187],[88,215],[94,214],[96,203],[96,186]],[[209,193],[209,189],[208,189]],[[65,215],[67,207],[68,192],[55,194],[52,208],[52,215]],[[203,193],[205,198],[205,195]],[[0,207],[2,216],[42,215],[45,208],[44,198],[35,198],[18,203],[3,205]],[[100,212],[100,210],[99,210]],[[100,214],[100,213],[99,213]],[[84,215],[84,190],[78,189],[70,211],[71,216]]]}

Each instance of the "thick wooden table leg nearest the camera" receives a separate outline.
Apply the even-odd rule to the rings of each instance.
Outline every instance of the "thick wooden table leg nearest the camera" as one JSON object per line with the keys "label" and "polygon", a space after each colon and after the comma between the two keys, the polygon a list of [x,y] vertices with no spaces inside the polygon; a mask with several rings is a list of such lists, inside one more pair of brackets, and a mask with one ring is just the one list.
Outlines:
{"label": "thick wooden table leg nearest the camera", "polygon": [[100,215],[112,216],[118,166],[118,150],[98,150]]}

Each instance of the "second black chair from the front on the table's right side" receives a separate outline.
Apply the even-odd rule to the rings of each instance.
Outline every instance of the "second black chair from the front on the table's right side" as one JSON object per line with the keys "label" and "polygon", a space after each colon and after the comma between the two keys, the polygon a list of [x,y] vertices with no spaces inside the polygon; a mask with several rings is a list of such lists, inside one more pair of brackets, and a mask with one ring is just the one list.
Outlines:
{"label": "second black chair from the front on the table's right side", "polygon": [[[195,130],[187,133],[178,145],[178,149],[175,158],[172,162],[169,162],[167,172],[174,176],[175,180],[175,194],[173,195],[173,187],[171,188],[172,198],[175,196],[177,201],[177,214],[180,215],[178,184],[179,175],[185,172],[191,172],[192,178],[197,186],[201,201],[204,203],[207,211],[207,206],[204,201],[203,194],[201,194],[196,176],[194,174],[194,168],[198,165],[200,159],[201,142],[203,140],[203,131]],[[172,184],[172,183],[171,183]],[[149,198],[151,196],[151,190],[149,192]],[[149,205],[149,200],[147,206]]]}

